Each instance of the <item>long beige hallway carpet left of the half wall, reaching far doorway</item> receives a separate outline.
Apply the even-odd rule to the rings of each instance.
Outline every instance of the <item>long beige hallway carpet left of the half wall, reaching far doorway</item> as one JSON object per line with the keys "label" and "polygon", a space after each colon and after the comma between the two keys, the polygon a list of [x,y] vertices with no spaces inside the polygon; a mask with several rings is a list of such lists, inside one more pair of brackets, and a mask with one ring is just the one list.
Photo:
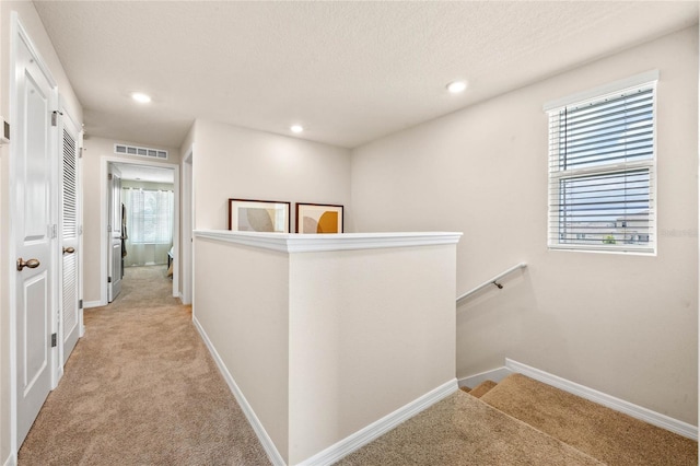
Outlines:
{"label": "long beige hallway carpet left of the half wall, reaching far doorway", "polygon": [[268,464],[165,266],[127,268],[84,322],[19,465]]}

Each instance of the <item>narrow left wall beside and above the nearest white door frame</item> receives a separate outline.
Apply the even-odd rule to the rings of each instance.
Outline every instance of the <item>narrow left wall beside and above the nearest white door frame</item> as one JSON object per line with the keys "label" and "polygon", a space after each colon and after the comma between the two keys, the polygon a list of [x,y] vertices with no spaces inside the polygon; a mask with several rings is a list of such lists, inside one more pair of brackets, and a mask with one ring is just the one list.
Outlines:
{"label": "narrow left wall beside and above the nearest white door frame", "polygon": [[[42,56],[58,84],[58,92],[66,102],[67,109],[79,121],[82,121],[82,107],[68,81],[68,77],[54,50],[54,46],[44,30],[34,4],[30,1],[0,2],[0,115],[8,118],[10,125],[10,46],[11,46],[11,13],[16,11],[20,22],[32,38],[34,46]],[[0,264],[8,267],[14,261],[9,256],[10,229],[10,193],[9,193],[9,145],[0,148]],[[11,451],[10,439],[10,304],[9,280],[5,270],[0,270],[0,464],[16,452]]]}

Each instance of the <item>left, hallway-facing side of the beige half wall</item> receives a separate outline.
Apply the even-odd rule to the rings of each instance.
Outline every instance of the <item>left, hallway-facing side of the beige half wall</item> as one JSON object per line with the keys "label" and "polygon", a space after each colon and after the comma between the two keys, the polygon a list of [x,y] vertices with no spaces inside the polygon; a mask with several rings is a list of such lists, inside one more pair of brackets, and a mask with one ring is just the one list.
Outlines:
{"label": "left, hallway-facing side of the beige half wall", "polygon": [[[289,448],[289,255],[195,238],[194,318],[280,452]],[[246,267],[235,265],[245,264]],[[205,273],[205,280],[199,280]],[[264,283],[264,286],[260,286]]]}

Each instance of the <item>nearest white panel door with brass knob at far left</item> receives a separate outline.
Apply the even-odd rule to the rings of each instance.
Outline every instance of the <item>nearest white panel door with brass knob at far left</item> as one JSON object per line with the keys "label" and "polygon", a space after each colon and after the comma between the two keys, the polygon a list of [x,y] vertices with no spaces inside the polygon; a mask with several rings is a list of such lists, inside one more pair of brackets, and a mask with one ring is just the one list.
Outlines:
{"label": "nearest white panel door with brass knob at far left", "polygon": [[[52,158],[56,132],[51,114],[56,90],[23,40],[15,61],[16,118],[12,223],[16,256],[16,409],[18,445],[22,444],[51,389],[51,293],[56,247]],[[51,145],[54,144],[54,145]]]}

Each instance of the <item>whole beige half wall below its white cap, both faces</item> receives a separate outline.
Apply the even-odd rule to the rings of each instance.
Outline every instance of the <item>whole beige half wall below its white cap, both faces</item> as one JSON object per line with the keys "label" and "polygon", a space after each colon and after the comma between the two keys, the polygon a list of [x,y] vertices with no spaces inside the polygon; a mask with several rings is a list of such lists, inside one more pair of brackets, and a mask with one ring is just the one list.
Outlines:
{"label": "whole beige half wall below its white cap, both faces", "polygon": [[456,236],[236,235],[195,238],[194,318],[288,464],[456,389]]}

